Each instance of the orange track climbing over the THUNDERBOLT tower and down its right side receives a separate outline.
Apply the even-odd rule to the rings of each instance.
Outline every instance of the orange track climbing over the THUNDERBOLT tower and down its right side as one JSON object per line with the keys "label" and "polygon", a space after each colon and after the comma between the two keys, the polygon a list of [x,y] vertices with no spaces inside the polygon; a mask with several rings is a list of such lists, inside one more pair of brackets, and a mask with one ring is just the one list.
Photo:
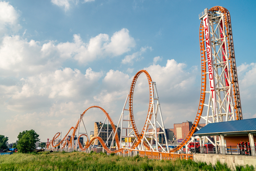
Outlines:
{"label": "orange track climbing over the THUNDERBOLT tower and down its right side", "polygon": [[[233,91],[233,98],[234,98],[234,109],[236,110],[236,119],[243,119],[242,116],[242,109],[241,109],[241,101],[240,101],[240,93],[239,93],[239,86],[238,86],[238,77],[237,77],[237,68],[236,68],[236,60],[234,58],[234,46],[233,46],[233,37],[232,37],[232,29],[231,29],[231,19],[230,14],[226,8],[216,6],[212,7],[206,12],[221,12],[224,14],[224,25],[226,28],[226,34],[227,34],[227,47],[228,47],[228,55],[229,55],[229,70],[231,73],[231,83],[232,83],[232,91]],[[170,152],[177,152],[179,149],[181,149],[193,136],[195,133],[197,126],[199,124],[200,118],[202,116],[202,112],[204,109],[204,102],[205,102],[205,96],[206,96],[206,48],[205,48],[205,39],[204,39],[204,25],[203,20],[200,24],[200,31],[199,31],[199,39],[200,39],[200,54],[201,54],[201,92],[200,92],[200,102],[199,102],[199,108],[196,115],[196,119],[194,121],[193,126],[191,127],[191,130],[189,131],[186,138],[173,150]]]}

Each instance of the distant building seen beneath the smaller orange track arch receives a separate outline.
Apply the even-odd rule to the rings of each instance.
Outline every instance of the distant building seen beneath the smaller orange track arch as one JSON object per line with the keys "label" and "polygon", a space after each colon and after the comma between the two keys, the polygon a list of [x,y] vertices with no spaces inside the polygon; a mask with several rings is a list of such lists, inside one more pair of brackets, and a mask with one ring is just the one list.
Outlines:
{"label": "distant building seen beneath the smaller orange track arch", "polygon": [[[108,124],[104,124],[103,127],[102,127],[101,132],[99,133],[102,124],[103,123],[101,123],[101,122],[95,122],[94,123],[94,135],[92,136],[92,132],[91,132],[90,133],[91,134],[90,137],[93,138],[93,137],[99,136],[106,143],[106,145],[109,146],[109,145],[111,145],[112,138],[113,138],[115,133],[113,132],[113,134],[111,135],[111,137],[108,140],[108,137],[110,136],[110,134],[111,134],[111,132],[113,130],[112,126],[111,126],[111,124],[109,124],[109,126],[108,126]],[[121,133],[121,129],[120,129],[120,127],[118,127],[118,130],[117,130],[118,137],[120,137],[120,133]],[[108,140],[108,142],[106,142],[106,140]],[[116,140],[114,138],[114,144],[115,143],[116,143]],[[95,145],[100,145],[98,140],[96,140]]]}

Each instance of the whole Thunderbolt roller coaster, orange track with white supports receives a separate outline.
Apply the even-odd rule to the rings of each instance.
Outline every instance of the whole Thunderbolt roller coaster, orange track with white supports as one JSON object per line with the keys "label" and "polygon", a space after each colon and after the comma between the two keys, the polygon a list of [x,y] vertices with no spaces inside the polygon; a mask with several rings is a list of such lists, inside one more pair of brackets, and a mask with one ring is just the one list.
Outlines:
{"label": "whole Thunderbolt roller coaster, orange track with white supports", "polygon": [[[73,151],[79,146],[79,151],[90,152],[94,147],[95,141],[98,140],[103,149],[108,153],[123,153],[130,155],[130,153],[134,151],[133,154],[139,153],[140,156],[147,156],[148,158],[190,158],[191,155],[179,154],[179,152],[183,149],[183,146],[193,140],[193,134],[198,129],[199,121],[208,124],[243,119],[230,14],[227,9],[216,6],[209,10],[205,9],[199,14],[199,19],[201,19],[199,38],[202,71],[199,108],[190,132],[176,148],[168,148],[156,82],[152,81],[151,76],[147,71],[141,70],[133,78],[130,94],[127,95],[117,126],[115,126],[113,120],[104,109],[99,106],[91,106],[80,115],[75,127],[71,127],[64,138],[61,139],[60,133],[57,133],[47,145],[47,149],[52,150],[60,148],[66,151]],[[142,73],[147,77],[148,86],[150,88],[150,102],[145,124],[142,132],[139,133],[133,115],[133,96],[136,81]],[[206,98],[208,100],[205,100]],[[127,101],[129,101],[129,109],[126,109]],[[99,137],[99,134],[102,132],[102,127],[98,136],[92,139],[90,139],[90,135],[87,133],[86,126],[83,122],[83,116],[91,108],[98,108],[105,114],[105,120],[102,127],[106,119],[108,119],[108,122],[110,122],[112,126],[113,131],[110,134],[108,131],[108,139],[105,142]],[[128,117],[124,116],[125,112],[129,112],[129,114],[126,114]],[[127,126],[124,126],[125,124],[127,124]],[[85,133],[80,132],[81,126],[84,128]],[[121,129],[120,137],[117,134],[117,127],[120,127]],[[147,132],[148,127],[153,131]],[[163,132],[157,132],[157,127],[161,127]],[[68,135],[71,130],[73,130],[73,133],[69,140]],[[123,132],[126,132],[127,134],[123,135]],[[166,142],[165,147],[158,143],[158,134],[164,135]],[[76,141],[76,144],[74,144],[75,135],[78,140],[81,136],[87,137],[87,143],[84,147],[79,141]],[[111,146],[108,148],[105,143],[110,140],[110,137],[113,138]],[[133,139],[132,145],[122,148],[122,138]],[[206,139],[208,139],[208,137],[200,139],[200,144],[203,143],[204,145]],[[114,147],[114,140],[116,142],[116,149],[115,151],[112,151],[111,149]],[[222,144],[216,136],[214,142],[210,139],[208,139],[208,141],[215,147]],[[153,148],[153,144],[160,146],[160,148]]]}

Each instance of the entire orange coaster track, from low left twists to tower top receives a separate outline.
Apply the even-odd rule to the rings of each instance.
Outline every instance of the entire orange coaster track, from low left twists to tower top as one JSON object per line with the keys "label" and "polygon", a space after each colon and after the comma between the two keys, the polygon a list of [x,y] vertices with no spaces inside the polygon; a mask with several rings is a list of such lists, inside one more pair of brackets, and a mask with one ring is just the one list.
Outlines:
{"label": "entire orange coaster track, from low left twists to tower top", "polygon": [[[231,75],[231,81],[226,81],[226,85],[229,85],[230,83],[232,84],[232,91],[233,91],[233,99],[234,99],[234,109],[236,110],[236,119],[239,120],[239,119],[243,119],[242,117],[242,110],[241,110],[241,101],[240,101],[240,93],[239,93],[239,85],[238,85],[238,78],[237,78],[237,68],[236,68],[236,60],[235,60],[235,57],[234,57],[234,47],[233,47],[233,38],[232,38],[232,29],[231,29],[231,20],[230,20],[230,14],[228,12],[227,9],[223,8],[223,7],[219,7],[219,6],[216,6],[216,7],[212,7],[211,9],[209,10],[206,10],[205,11],[207,13],[207,16],[208,16],[208,13],[212,16],[214,16],[215,13],[221,13],[221,15],[224,17],[223,19],[223,23],[224,23],[224,26],[220,29],[220,35],[223,34],[223,33],[226,33],[225,36],[221,35],[222,37],[220,38],[222,40],[222,44],[220,44],[220,47],[222,48],[222,55],[226,55],[226,52],[224,52],[226,49],[228,49],[228,60],[229,60],[229,64],[230,66],[225,66],[223,67],[226,75],[223,76],[225,77],[225,79],[229,79],[229,74],[228,74],[228,71],[230,71],[230,75]],[[219,25],[222,25],[222,21],[218,24]],[[226,32],[224,32],[223,30],[226,30]],[[212,31],[212,32],[215,32],[215,31]],[[215,34],[215,33],[212,33],[212,34]],[[188,135],[186,136],[186,138],[174,149],[170,150],[169,152],[170,153],[174,153],[174,152],[177,152],[179,151],[185,144],[188,143],[188,141],[190,141],[191,137],[193,136],[193,134],[195,133],[197,127],[198,127],[198,124],[200,122],[200,119],[202,118],[202,113],[203,113],[203,109],[204,109],[204,105],[207,106],[207,104],[205,104],[205,98],[206,98],[206,77],[207,77],[207,59],[206,59],[206,47],[205,47],[205,28],[204,28],[204,21],[202,20],[201,21],[201,24],[200,24],[200,31],[199,31],[199,39],[200,39],[200,58],[201,58],[201,91],[200,91],[200,101],[199,101],[199,107],[198,107],[198,111],[197,111],[197,114],[196,114],[196,119],[193,123],[193,126],[191,127],[191,130],[190,132],[188,133]],[[227,40],[227,48],[224,47],[223,45],[223,41],[224,41],[224,38],[226,38]],[[219,40],[220,40],[219,39]],[[209,43],[208,43],[209,44]],[[206,44],[207,45],[207,44]],[[209,45],[208,45],[209,46]],[[223,46],[223,47],[222,47]],[[226,46],[226,45],[225,45]],[[219,50],[220,51],[220,50]],[[208,55],[208,54],[207,54]],[[223,57],[224,58],[224,57]],[[209,59],[209,58],[208,58]],[[227,61],[226,59],[223,59],[225,60],[225,62]],[[223,62],[224,63],[224,62]],[[209,64],[208,64],[209,66]],[[209,68],[208,68],[209,70]],[[135,119],[134,119],[134,111],[133,111],[133,97],[134,97],[134,89],[135,89],[135,84],[136,84],[136,81],[138,79],[138,77],[140,76],[140,74],[144,73],[147,77],[147,81],[148,81],[148,85],[149,85],[149,88],[150,88],[150,102],[149,102],[149,106],[148,106],[148,111],[147,111],[147,116],[146,116],[146,122],[143,126],[143,129],[141,131],[141,133],[138,132],[137,130],[137,127],[136,127],[136,124],[135,124]],[[216,78],[218,79],[218,75],[216,76]],[[223,81],[224,82],[224,81]],[[223,83],[224,84],[224,83]],[[141,143],[142,141],[142,138],[145,134],[145,132],[147,131],[148,129],[148,125],[146,124],[148,120],[151,120],[151,117],[152,117],[152,112],[153,112],[153,108],[152,108],[152,104],[154,104],[154,87],[152,86],[153,85],[153,82],[152,82],[152,79],[151,79],[151,76],[150,74],[148,74],[147,71],[145,70],[141,70],[139,71],[133,78],[133,81],[132,81],[132,84],[131,84],[131,88],[130,88],[130,94],[129,94],[129,115],[130,115],[130,120],[131,120],[131,124],[132,124],[132,129],[134,131],[134,134],[135,136],[137,137],[137,140],[135,141],[135,143],[133,143],[132,147],[129,148],[128,150],[132,150],[132,151],[138,151],[137,149],[135,149],[137,146],[139,146],[139,144]],[[226,94],[231,94],[231,88],[229,89],[229,93],[227,93],[228,91],[226,91],[225,93]],[[156,93],[157,94],[157,93]],[[225,96],[226,97],[226,96]],[[224,97],[224,100],[226,100],[227,98]],[[211,97],[210,97],[210,100],[211,100]],[[209,100],[209,101],[210,101]],[[125,102],[126,103],[126,102]],[[223,104],[224,102],[222,102]],[[232,102],[231,102],[232,103]],[[208,104],[208,108],[210,106],[210,102]],[[214,104],[211,104],[211,108],[212,106],[214,106]],[[228,106],[230,106],[229,103],[227,103],[227,109],[228,109]],[[80,115],[80,118],[78,119],[75,127],[71,127],[71,129],[69,130],[68,134],[71,132],[71,130],[73,130],[73,133],[72,133],[72,137],[75,137],[75,134],[78,130],[78,127],[79,127],[79,123],[81,122],[82,120],[82,117],[84,116],[84,114],[91,108],[98,108],[100,109],[106,116],[106,118],[108,118],[108,120],[110,121],[110,124],[112,126],[112,129],[114,132],[116,132],[116,126],[114,124],[114,122],[112,121],[111,117],[109,116],[109,114],[102,108],[100,108],[99,106],[91,106],[90,108],[88,108],[86,111],[84,111],[81,115]],[[209,109],[208,109],[209,111]],[[230,117],[231,115],[229,115],[230,112],[230,107],[228,110],[226,110],[225,112],[227,113],[226,117]],[[214,115],[212,115],[212,120],[214,120]],[[231,120],[231,119],[230,119]],[[213,121],[214,122],[214,121]],[[207,124],[207,121],[206,121],[206,124]],[[121,130],[122,131],[122,130]],[[55,136],[53,137],[52,141],[50,142],[51,146],[52,147],[57,147],[58,145],[60,145],[62,142],[64,142],[68,136],[68,134],[60,141],[58,142],[56,145],[54,145],[54,141],[60,136],[60,133],[57,133],[55,134]],[[127,150],[124,149],[124,148],[120,148],[120,141],[119,141],[119,137],[118,137],[118,134],[115,134],[115,141],[116,141],[116,144],[117,144],[117,147],[119,149],[117,149],[116,151],[111,151],[104,143],[104,141],[100,138],[100,137],[94,137],[90,140],[89,142],[89,138],[88,138],[88,135],[86,134],[81,134],[78,139],[81,137],[81,136],[86,136],[88,141],[87,141],[87,144],[86,146],[82,147],[81,143],[78,142],[78,145],[80,147],[80,149],[82,151],[85,151],[87,148],[90,147],[90,145],[93,143],[93,141],[95,141],[96,139],[99,140],[99,142],[101,143],[102,147],[106,150],[106,152],[108,153],[118,153],[118,152],[121,152],[121,153],[128,153],[127,151],[124,152],[124,150]],[[66,140],[69,144],[69,146],[72,144],[72,140],[71,139],[70,141]],[[66,142],[66,143],[67,143]],[[66,144],[65,143],[65,144]],[[150,147],[148,146],[148,144],[146,144],[145,142],[143,142],[143,145],[146,147],[146,149],[150,149]],[[71,145],[72,146],[72,145]],[[49,147],[49,145],[47,146]],[[62,146],[61,148],[63,148],[64,146]],[[169,158],[172,158],[172,154],[166,154],[166,153],[162,153],[162,152],[140,152],[139,151],[139,154],[140,156],[151,156],[150,158],[159,158],[157,156],[161,156],[163,155],[164,158],[166,159],[169,159]],[[181,156],[173,156],[173,159],[174,158],[179,158]],[[191,156],[187,156],[189,158],[191,158]]]}

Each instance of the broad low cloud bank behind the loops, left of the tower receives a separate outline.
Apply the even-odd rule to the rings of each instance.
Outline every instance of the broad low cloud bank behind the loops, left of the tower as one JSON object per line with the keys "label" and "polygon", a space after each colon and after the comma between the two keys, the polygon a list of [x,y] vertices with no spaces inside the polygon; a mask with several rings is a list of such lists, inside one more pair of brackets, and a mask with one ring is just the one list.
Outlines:
{"label": "broad low cloud bank behind the loops, left of the tower", "polygon": [[[194,89],[189,88],[187,82],[189,86],[195,84],[195,70],[187,71],[184,63],[177,63],[174,59],[167,60],[166,66],[152,65],[145,70],[157,83],[163,117],[167,118],[168,126],[172,122],[170,113],[177,119],[179,112],[182,112],[179,116],[194,112],[195,109],[191,107],[191,101],[195,103],[195,100],[191,100],[194,96],[189,94]],[[35,131],[39,129],[41,138],[52,138],[56,132],[66,134],[75,125],[79,114],[89,106],[99,105],[117,124],[133,77],[118,70],[110,70],[102,82],[101,77],[101,72],[94,72],[90,68],[85,74],[76,69],[65,68],[23,78],[16,86],[2,86],[0,95],[4,97],[5,108],[17,113],[12,119],[8,118],[6,123],[17,134],[20,130],[35,128]],[[134,113],[138,127],[142,127],[145,122],[148,94],[147,79],[145,75],[141,75],[134,92]],[[184,103],[186,109],[182,108]],[[196,108],[197,106],[196,102]],[[127,114],[129,113],[125,113]],[[102,121],[103,118],[101,111],[88,113],[84,117],[88,131],[93,131],[94,121]],[[194,115],[192,118],[194,119]],[[26,124],[23,124],[24,119],[27,119]]]}

